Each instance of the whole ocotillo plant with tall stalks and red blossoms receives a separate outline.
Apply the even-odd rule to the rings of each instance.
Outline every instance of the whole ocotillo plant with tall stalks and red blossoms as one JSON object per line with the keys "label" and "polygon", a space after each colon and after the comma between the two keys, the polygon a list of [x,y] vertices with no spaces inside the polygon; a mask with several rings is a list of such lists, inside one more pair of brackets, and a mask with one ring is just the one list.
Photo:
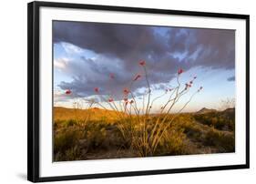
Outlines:
{"label": "whole ocotillo plant with tall stalks and red blossoms", "polygon": [[[97,106],[107,110],[110,108],[116,112],[119,118],[118,129],[127,142],[126,147],[137,151],[139,157],[147,157],[154,156],[159,142],[168,131],[171,123],[188,106],[189,102],[200,92],[202,87],[190,95],[188,101],[180,107],[177,113],[170,116],[173,107],[179,102],[181,97],[189,93],[197,77],[192,77],[188,83],[181,85],[179,77],[182,76],[184,71],[182,68],[179,68],[175,87],[166,88],[162,95],[152,98],[152,87],[148,79],[147,63],[141,60],[138,62],[138,66],[142,67],[143,74],[136,74],[131,78],[128,87],[122,90],[122,99],[115,98],[112,94],[101,94],[101,89],[95,87],[93,89],[95,95],[99,96],[102,101],[93,101],[92,104],[97,104]],[[111,73],[109,77],[115,81],[115,74]],[[134,95],[132,88],[142,78],[145,79],[147,84],[147,91],[142,97],[142,107],[139,107],[138,98]],[[67,91],[67,93],[69,92]],[[155,104],[162,97],[166,97],[167,100],[157,109]],[[87,101],[87,99],[85,100]],[[152,113],[150,113],[152,109],[157,109],[158,114],[152,116]]]}

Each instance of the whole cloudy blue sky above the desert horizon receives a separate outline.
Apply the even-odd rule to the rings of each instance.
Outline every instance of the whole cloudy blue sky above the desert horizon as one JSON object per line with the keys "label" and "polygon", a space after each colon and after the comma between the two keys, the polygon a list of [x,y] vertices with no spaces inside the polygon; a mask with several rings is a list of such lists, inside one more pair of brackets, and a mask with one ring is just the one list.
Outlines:
{"label": "whole cloudy blue sky above the desert horizon", "polygon": [[[233,30],[55,21],[53,46],[55,106],[72,107],[77,98],[98,97],[95,87],[100,96],[119,100],[136,75],[141,77],[131,90],[139,101],[147,87],[140,60],[146,61],[152,98],[177,86],[179,68],[184,70],[181,86],[197,77],[190,95],[200,86],[203,90],[185,111],[218,108],[220,100],[235,97]],[[71,95],[65,94],[68,89]],[[154,109],[166,100],[159,98]]]}

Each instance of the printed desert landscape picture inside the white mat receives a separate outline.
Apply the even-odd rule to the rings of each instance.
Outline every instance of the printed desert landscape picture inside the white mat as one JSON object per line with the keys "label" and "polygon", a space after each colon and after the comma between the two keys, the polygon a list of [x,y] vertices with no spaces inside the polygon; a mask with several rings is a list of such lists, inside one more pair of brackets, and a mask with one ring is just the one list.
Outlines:
{"label": "printed desert landscape picture inside the white mat", "polygon": [[235,31],[53,22],[53,161],[235,152]]}

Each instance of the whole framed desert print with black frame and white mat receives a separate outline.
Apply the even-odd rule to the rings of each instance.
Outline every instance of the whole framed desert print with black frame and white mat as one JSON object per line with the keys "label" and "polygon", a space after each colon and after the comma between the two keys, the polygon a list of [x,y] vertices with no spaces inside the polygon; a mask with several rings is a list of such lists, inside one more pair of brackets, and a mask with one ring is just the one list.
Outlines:
{"label": "whole framed desert print with black frame and white mat", "polygon": [[28,4],[28,180],[249,168],[249,15]]}

